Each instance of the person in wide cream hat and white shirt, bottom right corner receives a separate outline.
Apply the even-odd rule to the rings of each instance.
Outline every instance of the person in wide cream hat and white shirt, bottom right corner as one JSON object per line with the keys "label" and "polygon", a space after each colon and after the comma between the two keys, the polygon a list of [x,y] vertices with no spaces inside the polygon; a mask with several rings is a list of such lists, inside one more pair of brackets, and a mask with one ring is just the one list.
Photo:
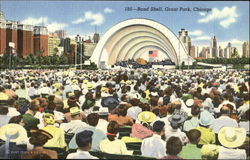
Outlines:
{"label": "person in wide cream hat and white shirt, bottom right corner", "polygon": [[245,139],[246,130],[244,128],[223,127],[218,134],[219,146],[218,159],[247,159],[246,150],[238,149]]}

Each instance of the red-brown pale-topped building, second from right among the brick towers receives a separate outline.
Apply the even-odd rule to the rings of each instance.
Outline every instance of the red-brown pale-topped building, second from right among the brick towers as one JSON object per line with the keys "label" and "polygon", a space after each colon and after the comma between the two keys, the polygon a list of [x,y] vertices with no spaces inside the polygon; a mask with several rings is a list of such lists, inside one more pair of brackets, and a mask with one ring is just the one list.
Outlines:
{"label": "red-brown pale-topped building, second from right among the brick towers", "polygon": [[17,25],[17,53],[26,57],[29,54],[34,54],[34,35],[33,26],[18,24]]}

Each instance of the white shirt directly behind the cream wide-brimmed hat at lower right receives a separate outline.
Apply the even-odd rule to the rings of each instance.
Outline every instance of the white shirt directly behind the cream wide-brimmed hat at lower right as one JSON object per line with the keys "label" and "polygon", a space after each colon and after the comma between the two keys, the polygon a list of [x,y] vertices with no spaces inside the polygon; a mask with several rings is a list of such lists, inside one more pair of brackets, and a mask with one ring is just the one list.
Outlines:
{"label": "white shirt directly behind the cream wide-brimmed hat at lower right", "polygon": [[220,116],[216,118],[213,124],[210,126],[214,133],[219,133],[220,129],[223,127],[238,127],[238,123],[236,120],[228,117],[228,116]]}

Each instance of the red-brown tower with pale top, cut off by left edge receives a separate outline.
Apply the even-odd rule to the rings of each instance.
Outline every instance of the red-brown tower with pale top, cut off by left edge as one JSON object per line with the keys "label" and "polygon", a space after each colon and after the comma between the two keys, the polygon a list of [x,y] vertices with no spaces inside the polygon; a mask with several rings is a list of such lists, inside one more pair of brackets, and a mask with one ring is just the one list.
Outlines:
{"label": "red-brown tower with pale top, cut off by left edge", "polygon": [[3,12],[0,11],[0,55],[6,51],[6,21]]}

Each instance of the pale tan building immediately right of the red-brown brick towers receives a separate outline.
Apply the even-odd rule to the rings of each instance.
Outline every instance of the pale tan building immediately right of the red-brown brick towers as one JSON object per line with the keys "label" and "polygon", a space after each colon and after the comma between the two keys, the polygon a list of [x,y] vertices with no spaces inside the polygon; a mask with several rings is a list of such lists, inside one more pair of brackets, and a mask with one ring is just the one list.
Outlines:
{"label": "pale tan building immediately right of the red-brown brick towers", "polygon": [[54,54],[57,54],[59,52],[58,47],[61,43],[60,38],[58,38],[56,33],[49,34],[49,40],[48,40],[48,52],[49,56],[52,56]]}

